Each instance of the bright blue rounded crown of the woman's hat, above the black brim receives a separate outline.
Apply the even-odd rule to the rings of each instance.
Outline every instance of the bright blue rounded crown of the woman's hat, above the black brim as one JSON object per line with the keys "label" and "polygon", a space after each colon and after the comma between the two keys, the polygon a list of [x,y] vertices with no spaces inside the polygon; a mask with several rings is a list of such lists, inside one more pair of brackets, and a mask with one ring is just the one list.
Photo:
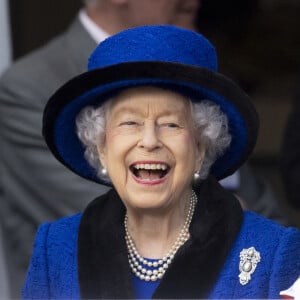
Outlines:
{"label": "bright blue rounded crown of the woman's hat, above the black brim", "polygon": [[217,70],[215,48],[203,35],[166,25],[137,27],[107,38],[90,56],[88,70],[135,61],[175,62]]}

